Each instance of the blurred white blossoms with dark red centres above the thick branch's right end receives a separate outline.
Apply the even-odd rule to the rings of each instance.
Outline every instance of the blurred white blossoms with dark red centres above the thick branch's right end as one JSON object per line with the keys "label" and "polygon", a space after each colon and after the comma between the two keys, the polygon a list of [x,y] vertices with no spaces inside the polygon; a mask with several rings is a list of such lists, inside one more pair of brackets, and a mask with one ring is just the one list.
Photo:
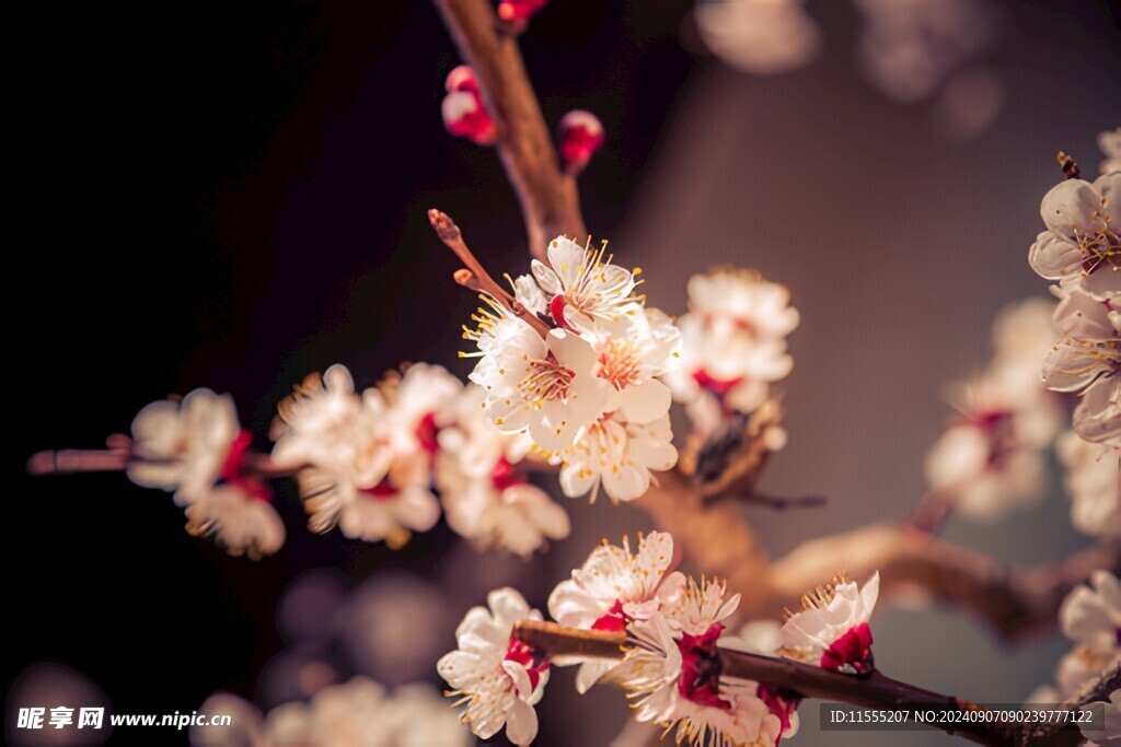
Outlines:
{"label": "blurred white blossoms with dark red centres above the thick branch's right end", "polygon": [[993,357],[951,390],[957,414],[927,451],[930,489],[973,520],[994,521],[1043,493],[1044,455],[1062,417],[1039,381],[1039,360],[1057,336],[1050,304],[1030,299],[993,324]]}

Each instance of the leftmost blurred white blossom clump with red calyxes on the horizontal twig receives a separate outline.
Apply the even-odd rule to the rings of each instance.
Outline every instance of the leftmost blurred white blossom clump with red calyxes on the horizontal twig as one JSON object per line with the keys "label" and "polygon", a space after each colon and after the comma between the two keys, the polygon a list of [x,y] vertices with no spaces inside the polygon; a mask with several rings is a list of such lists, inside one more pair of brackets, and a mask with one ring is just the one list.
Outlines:
{"label": "leftmost blurred white blossom clump with red calyxes on the horizontal twig", "polygon": [[271,491],[245,470],[250,441],[229,394],[196,389],[137,413],[126,473],[137,485],[172,493],[191,534],[257,559],[280,549],[285,529]]}

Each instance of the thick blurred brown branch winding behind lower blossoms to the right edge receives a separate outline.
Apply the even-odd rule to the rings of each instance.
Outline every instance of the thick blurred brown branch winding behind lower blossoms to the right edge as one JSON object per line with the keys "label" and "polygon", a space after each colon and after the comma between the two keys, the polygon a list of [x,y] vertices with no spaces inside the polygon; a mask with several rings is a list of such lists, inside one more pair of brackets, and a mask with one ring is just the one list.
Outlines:
{"label": "thick blurred brown branch winding behind lower blossoms to the right edge", "polygon": [[1121,545],[1075,552],[1056,564],[1010,568],[984,553],[881,524],[810,540],[771,562],[740,505],[705,501],[678,473],[639,502],[682,552],[741,592],[748,618],[778,618],[784,605],[844,570],[863,580],[880,571],[881,592],[918,592],[972,610],[1007,641],[1053,631],[1063,598],[1099,568],[1121,571]]}

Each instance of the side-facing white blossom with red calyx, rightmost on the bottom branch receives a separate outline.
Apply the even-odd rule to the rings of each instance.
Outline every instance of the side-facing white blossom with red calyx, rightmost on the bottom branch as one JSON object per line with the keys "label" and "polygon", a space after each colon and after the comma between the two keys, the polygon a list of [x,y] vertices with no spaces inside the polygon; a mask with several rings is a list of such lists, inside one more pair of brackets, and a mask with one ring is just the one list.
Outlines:
{"label": "side-facing white blossom with red calyx, rightmost on the bottom branch", "polygon": [[779,653],[826,670],[868,674],[876,666],[869,619],[879,594],[879,572],[863,589],[843,573],[817,587],[802,598],[802,611],[787,610]]}

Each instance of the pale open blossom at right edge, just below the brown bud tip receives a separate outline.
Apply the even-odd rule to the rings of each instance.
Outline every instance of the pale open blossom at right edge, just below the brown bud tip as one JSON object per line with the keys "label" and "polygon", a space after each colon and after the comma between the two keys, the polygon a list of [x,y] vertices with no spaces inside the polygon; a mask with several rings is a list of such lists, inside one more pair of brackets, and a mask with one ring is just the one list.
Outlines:
{"label": "pale open blossom at right edge, just below the brown bud tip", "polygon": [[1044,278],[1072,279],[1099,301],[1121,304],[1119,190],[1119,171],[1093,184],[1066,179],[1053,187],[1039,206],[1047,231],[1028,251],[1031,268]]}

